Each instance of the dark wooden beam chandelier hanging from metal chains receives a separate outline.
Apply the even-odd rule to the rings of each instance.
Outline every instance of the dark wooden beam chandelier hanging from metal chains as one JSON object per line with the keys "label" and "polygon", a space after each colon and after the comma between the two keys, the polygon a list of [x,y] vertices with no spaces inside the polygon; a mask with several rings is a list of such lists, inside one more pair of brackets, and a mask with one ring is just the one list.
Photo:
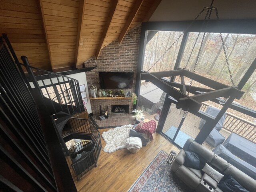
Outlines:
{"label": "dark wooden beam chandelier hanging from metal chains", "polygon": [[[192,23],[188,26],[188,28],[185,30],[186,32],[189,31],[189,28],[192,26],[192,24],[194,23],[194,21],[202,14],[202,12],[204,12],[204,10],[207,10],[206,16],[204,18],[204,20],[210,20],[210,16],[212,14],[212,10],[215,10],[216,12],[216,17],[217,20],[219,19],[218,17],[218,10],[216,7],[214,7],[213,4],[214,0],[212,0],[212,3],[210,5],[210,7],[204,7],[202,9],[202,11],[198,14],[198,16],[196,16],[196,18],[192,21]],[[204,24],[204,22],[203,22]],[[196,38],[196,42],[200,36],[200,33],[198,33],[198,36]],[[184,34],[184,32],[182,32],[180,34],[180,36],[170,45],[170,47],[168,49],[166,49],[166,51],[162,54],[162,56],[160,56],[160,58],[158,58],[158,60],[156,60],[156,62],[154,62],[153,65],[150,66],[150,68],[145,72],[141,74],[141,80],[146,80],[146,82],[151,82],[153,84],[155,84],[156,86],[158,86],[158,88],[160,88],[161,90],[163,90],[164,92],[166,92],[168,95],[170,95],[172,98],[174,98],[175,100],[177,100],[177,104],[176,104],[176,108],[177,109],[181,109],[180,110],[180,117],[185,118],[186,115],[188,114],[188,111],[190,112],[198,112],[202,106],[202,102],[207,101],[207,100],[213,100],[216,98],[220,98],[220,104],[225,104],[227,99],[232,96],[233,98],[236,99],[240,99],[242,97],[242,95],[244,94],[244,92],[242,92],[241,90],[238,90],[235,86],[234,86],[234,82],[233,82],[233,78],[232,78],[232,74],[230,72],[230,66],[228,63],[228,58],[226,56],[226,50],[225,50],[225,46],[224,46],[224,40],[223,40],[223,36],[220,33],[220,38],[221,38],[221,42],[222,42],[222,46],[223,46],[223,50],[224,50],[224,54],[225,54],[225,58],[226,58],[226,66],[228,68],[229,71],[229,75],[230,75],[230,80],[232,82],[232,86],[228,86],[228,85],[224,85],[222,83],[219,83],[217,81],[213,81],[209,78],[206,78],[204,76],[195,74],[196,68],[197,68],[197,64],[198,64],[198,60],[200,58],[200,51],[202,49],[202,44],[204,43],[204,38],[206,36],[206,32],[203,32],[203,36],[202,36],[202,41],[200,44],[200,48],[198,50],[198,54],[196,56],[196,62],[194,65],[194,69],[192,71],[188,71],[186,70],[186,67],[188,66],[190,57],[192,55],[192,52],[196,46],[196,42],[192,48],[192,51],[190,53],[190,56],[188,58],[188,62],[186,63],[186,67],[184,68],[178,68],[177,70],[170,70],[170,71],[161,71],[161,72],[154,72],[154,73],[150,73],[149,71],[161,60],[161,58],[170,50],[170,48],[172,48],[172,46],[174,46],[174,44],[176,44],[178,42],[178,40],[182,37],[182,35]],[[166,79],[164,77],[175,77],[175,76],[181,76],[183,78],[182,83],[176,83],[176,82],[171,82],[169,79]],[[189,86],[185,84],[184,82],[184,77],[190,78],[190,84]],[[192,86],[192,82],[193,80],[200,82],[209,88],[201,88],[201,87],[196,87],[196,86]],[[145,82],[145,87],[148,86],[148,84],[146,84]],[[179,90],[178,90],[178,89]],[[186,90],[188,92],[188,94],[186,93]],[[192,96],[189,96],[189,92],[194,94]]]}

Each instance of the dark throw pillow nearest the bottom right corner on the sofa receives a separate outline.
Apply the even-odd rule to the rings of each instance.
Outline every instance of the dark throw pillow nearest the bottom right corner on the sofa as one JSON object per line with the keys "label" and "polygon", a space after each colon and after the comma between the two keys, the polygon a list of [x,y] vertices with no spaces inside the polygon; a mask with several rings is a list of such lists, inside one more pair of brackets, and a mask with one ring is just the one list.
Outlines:
{"label": "dark throw pillow nearest the bottom right corner on the sofa", "polygon": [[230,174],[220,181],[218,187],[225,192],[249,192],[240,185]]}

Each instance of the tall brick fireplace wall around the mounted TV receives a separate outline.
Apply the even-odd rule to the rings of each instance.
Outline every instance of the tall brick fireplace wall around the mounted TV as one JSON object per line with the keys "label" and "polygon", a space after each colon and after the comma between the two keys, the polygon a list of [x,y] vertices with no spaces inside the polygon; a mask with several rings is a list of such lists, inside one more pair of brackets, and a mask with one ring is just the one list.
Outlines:
{"label": "tall brick fireplace wall around the mounted TV", "polygon": [[[118,44],[118,40],[115,40],[105,46],[101,50],[97,62],[95,62],[95,58],[90,58],[84,62],[84,66],[86,67],[97,66],[94,70],[86,72],[88,87],[97,86],[97,89],[100,89],[98,72],[125,71],[134,72],[132,88],[125,89],[134,92],[138,65],[140,30],[140,26],[131,29],[120,45]],[[120,91],[120,89],[112,89],[113,94],[116,91]],[[100,105],[102,106],[102,110],[106,110],[107,106],[109,110],[111,110],[111,105],[129,105],[129,113],[131,113],[133,109],[131,98],[90,98],[90,103],[93,114],[100,113]]]}

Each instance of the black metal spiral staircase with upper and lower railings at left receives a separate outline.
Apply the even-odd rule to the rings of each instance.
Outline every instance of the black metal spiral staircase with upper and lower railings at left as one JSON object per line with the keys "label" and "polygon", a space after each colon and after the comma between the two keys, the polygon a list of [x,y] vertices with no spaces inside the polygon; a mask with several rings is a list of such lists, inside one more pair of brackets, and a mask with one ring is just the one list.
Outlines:
{"label": "black metal spiral staircase with upper and lower railings at left", "polygon": [[[32,67],[26,56],[21,57],[23,64],[20,63],[7,36],[4,36],[4,40],[37,107],[46,110],[51,117],[64,154],[74,157],[73,151],[66,147],[65,142],[68,140],[80,138],[90,141],[90,150],[88,145],[82,144],[84,148],[76,151],[76,160],[72,161],[72,168],[80,179],[90,168],[97,165],[102,146],[100,133],[94,122],[90,119],[72,118],[84,111],[78,80]],[[86,155],[82,156],[85,151]]]}

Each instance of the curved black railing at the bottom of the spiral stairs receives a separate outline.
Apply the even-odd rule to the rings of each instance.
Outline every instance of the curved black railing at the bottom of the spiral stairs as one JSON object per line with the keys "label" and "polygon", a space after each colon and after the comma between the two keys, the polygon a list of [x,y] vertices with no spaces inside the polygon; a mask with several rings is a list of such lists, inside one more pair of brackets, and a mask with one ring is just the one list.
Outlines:
{"label": "curved black railing at the bottom of the spiral stairs", "polygon": [[[90,142],[85,141],[78,143],[69,150],[70,157],[73,159],[71,166],[79,180],[91,168],[97,165],[102,145],[100,140],[100,132],[98,131],[96,124],[94,124],[90,119],[70,118],[70,120],[67,122],[67,127],[62,131],[62,136],[72,133],[82,133],[91,137]],[[88,151],[91,144],[92,150]],[[86,151],[86,154],[82,156],[84,151]],[[80,156],[78,156],[78,154],[80,154]]]}

